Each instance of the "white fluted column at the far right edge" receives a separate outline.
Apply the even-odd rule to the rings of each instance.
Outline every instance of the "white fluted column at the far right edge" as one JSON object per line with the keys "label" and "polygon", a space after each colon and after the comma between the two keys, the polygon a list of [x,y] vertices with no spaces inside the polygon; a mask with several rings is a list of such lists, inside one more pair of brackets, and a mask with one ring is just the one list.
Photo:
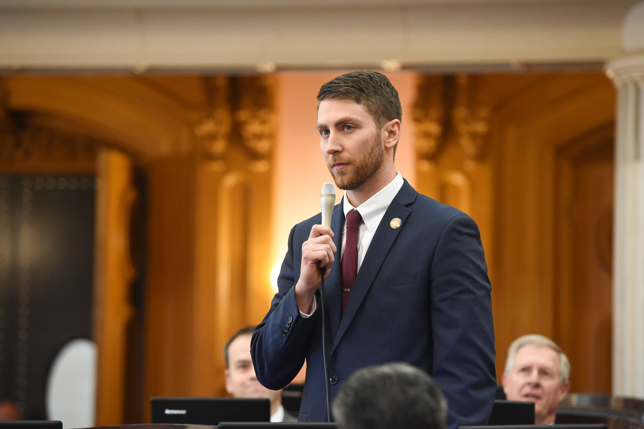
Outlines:
{"label": "white fluted column at the far right edge", "polygon": [[613,258],[614,395],[644,396],[644,55],[608,65],[618,92]]}

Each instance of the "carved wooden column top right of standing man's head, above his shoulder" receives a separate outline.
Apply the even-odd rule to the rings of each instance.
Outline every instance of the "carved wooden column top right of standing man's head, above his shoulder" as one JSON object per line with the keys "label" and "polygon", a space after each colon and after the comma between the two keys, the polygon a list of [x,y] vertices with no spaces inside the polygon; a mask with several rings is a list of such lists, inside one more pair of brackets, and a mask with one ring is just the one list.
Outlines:
{"label": "carved wooden column top right of standing man's head, above his shoulder", "polygon": [[[470,215],[491,108],[476,76],[420,76],[412,116],[419,192]],[[487,180],[487,178],[485,178]],[[484,192],[479,192],[479,196]]]}

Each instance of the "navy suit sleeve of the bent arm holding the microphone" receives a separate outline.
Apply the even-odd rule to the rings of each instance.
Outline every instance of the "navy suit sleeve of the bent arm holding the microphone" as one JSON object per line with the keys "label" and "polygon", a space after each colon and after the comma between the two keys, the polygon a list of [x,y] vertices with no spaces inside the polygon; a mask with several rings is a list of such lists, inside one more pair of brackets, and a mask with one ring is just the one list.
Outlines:
{"label": "navy suit sleeve of the bent arm holding the microphone", "polygon": [[308,337],[320,316],[317,311],[309,318],[301,317],[295,300],[294,286],[301,263],[301,242],[295,242],[294,238],[297,227],[289,234],[289,251],[279,273],[278,293],[251,339],[257,379],[273,390],[284,388],[298,375],[307,356]]}

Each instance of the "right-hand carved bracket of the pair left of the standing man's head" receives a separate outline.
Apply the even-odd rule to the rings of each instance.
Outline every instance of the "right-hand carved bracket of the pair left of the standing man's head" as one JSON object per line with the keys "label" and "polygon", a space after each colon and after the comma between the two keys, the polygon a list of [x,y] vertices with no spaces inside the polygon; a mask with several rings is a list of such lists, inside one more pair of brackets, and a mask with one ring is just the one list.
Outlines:
{"label": "right-hand carved bracket of the pair left of the standing man's head", "polygon": [[254,158],[269,157],[277,137],[274,82],[267,76],[240,77],[239,108],[234,117],[242,143]]}

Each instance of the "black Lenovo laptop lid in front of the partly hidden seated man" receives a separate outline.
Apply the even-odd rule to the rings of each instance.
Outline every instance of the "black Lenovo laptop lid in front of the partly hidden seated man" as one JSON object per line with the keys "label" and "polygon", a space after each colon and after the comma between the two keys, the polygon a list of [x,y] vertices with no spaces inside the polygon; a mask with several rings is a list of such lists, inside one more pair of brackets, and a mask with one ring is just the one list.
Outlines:
{"label": "black Lenovo laptop lid in front of the partly hidden seated man", "polygon": [[237,397],[153,397],[152,423],[203,424],[220,421],[270,421],[269,399]]}

